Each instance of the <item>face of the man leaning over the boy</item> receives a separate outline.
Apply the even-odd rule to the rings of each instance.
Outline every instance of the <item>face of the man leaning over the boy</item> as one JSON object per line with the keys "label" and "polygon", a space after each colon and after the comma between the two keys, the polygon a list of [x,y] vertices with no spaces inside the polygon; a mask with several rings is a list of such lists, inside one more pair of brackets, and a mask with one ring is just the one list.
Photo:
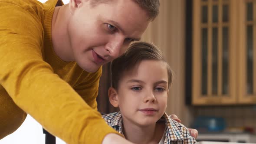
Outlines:
{"label": "face of the man leaning over the boy", "polygon": [[140,39],[149,22],[146,11],[132,0],[109,0],[95,7],[84,0],[68,24],[71,55],[82,69],[95,72]]}

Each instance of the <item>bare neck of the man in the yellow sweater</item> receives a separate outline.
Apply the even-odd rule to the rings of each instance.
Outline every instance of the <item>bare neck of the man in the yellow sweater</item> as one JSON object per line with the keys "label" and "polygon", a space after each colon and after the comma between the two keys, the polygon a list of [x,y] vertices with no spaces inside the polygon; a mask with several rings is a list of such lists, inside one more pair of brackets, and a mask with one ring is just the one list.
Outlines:
{"label": "bare neck of the man in the yellow sweater", "polygon": [[56,7],[52,19],[52,42],[53,49],[60,59],[66,62],[72,61],[70,56],[71,46],[69,43],[68,22],[71,16],[69,4]]}

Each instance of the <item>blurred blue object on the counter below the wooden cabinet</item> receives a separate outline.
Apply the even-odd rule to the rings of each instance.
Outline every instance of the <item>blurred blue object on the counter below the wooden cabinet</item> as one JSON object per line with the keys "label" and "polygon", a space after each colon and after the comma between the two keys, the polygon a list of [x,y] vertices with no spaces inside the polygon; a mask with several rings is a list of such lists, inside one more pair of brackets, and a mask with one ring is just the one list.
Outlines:
{"label": "blurred blue object on the counter below the wooden cabinet", "polygon": [[226,128],[226,122],[220,117],[198,116],[192,127],[198,131],[219,132]]}

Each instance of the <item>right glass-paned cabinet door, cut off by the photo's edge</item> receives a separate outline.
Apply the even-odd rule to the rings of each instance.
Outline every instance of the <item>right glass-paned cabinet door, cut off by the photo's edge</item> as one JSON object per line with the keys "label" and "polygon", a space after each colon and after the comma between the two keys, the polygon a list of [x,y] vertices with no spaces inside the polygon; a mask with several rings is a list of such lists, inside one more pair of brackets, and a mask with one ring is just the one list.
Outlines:
{"label": "right glass-paned cabinet door, cut off by the photo's edge", "polygon": [[239,102],[256,104],[256,1],[243,0],[240,3],[243,20],[240,29],[240,88]]}

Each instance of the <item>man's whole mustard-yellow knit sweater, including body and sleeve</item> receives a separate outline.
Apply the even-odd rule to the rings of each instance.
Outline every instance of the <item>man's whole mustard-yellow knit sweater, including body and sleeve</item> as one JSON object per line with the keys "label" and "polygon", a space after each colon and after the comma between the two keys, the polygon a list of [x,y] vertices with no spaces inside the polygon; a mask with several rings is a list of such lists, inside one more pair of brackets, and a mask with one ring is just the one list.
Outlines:
{"label": "man's whole mustard-yellow knit sweater, including body and sleeve", "polygon": [[56,3],[0,0],[0,139],[28,113],[68,144],[100,144],[106,134],[118,134],[97,112],[102,69],[88,73],[56,56],[51,41]]}

